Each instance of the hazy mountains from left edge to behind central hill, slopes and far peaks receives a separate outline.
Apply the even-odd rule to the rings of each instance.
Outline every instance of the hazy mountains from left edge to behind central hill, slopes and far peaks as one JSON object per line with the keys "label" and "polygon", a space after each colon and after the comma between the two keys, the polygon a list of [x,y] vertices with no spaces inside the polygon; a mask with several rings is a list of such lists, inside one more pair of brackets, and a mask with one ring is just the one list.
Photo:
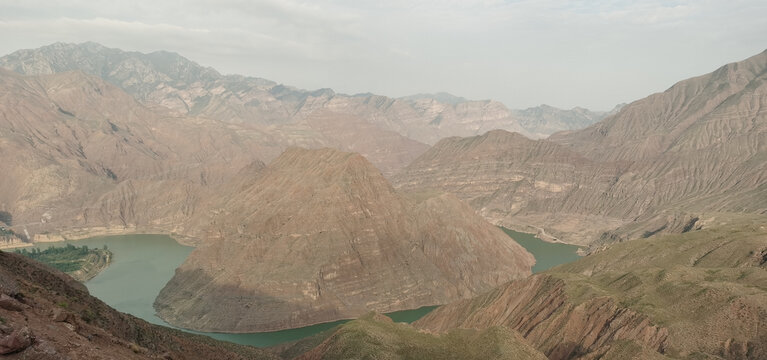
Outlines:
{"label": "hazy mountains from left edge to behind central hill, slopes and far peaks", "polygon": [[392,176],[441,137],[523,131],[494,101],[310,92],[95,43],[20,50],[0,66],[48,74],[3,73],[14,156],[2,166],[19,176],[3,180],[0,198],[38,240],[126,228],[184,234],[215,186],[289,146],[359,152]]}

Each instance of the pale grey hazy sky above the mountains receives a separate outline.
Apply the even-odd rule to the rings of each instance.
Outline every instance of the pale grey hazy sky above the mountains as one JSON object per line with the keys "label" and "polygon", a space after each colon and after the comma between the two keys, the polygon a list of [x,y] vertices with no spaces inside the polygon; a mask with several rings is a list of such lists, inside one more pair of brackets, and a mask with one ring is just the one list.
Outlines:
{"label": "pale grey hazy sky above the mountains", "polygon": [[608,110],[767,49],[767,1],[0,0],[0,54],[180,53],[306,89]]}

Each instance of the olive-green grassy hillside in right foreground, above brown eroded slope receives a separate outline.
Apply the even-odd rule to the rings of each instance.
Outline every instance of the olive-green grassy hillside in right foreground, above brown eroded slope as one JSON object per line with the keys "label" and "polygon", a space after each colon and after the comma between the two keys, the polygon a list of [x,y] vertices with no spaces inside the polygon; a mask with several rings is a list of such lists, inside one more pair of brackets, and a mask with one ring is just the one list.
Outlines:
{"label": "olive-green grassy hillside in right foreground, above brown eroded slope", "polygon": [[576,304],[608,296],[668,328],[671,356],[767,356],[767,222],[634,240],[550,274]]}

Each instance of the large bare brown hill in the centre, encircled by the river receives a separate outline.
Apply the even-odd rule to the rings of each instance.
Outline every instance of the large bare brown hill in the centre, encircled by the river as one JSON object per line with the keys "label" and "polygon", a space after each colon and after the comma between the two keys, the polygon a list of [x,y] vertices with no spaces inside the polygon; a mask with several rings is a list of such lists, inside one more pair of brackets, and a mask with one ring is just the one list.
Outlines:
{"label": "large bare brown hill in the centre, encircled by the river", "polygon": [[400,194],[358,154],[291,148],[247,176],[158,296],[171,324],[254,332],[441,304],[534,262],[454,197]]}

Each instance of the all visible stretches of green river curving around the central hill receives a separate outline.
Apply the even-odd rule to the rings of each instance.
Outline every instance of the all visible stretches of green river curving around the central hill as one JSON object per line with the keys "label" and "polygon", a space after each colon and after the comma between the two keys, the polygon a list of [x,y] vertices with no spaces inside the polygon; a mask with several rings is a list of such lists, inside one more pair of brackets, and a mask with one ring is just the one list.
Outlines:
{"label": "all visible stretches of green river curving around the central hill", "polygon": [[[536,258],[533,272],[540,272],[552,266],[574,261],[577,247],[566,244],[552,244],[533,235],[503,229],[513,236]],[[115,309],[137,316],[148,322],[169,326],[157,317],[152,304],[160,290],[173,277],[175,269],[184,262],[193,248],[180,245],[166,235],[122,235],[95,237],[85,240],[57,242],[51,245],[87,245],[102,248],[106,245],[114,254],[112,264],[99,275],[85,283],[91,295],[101,299]],[[47,248],[48,244],[41,245]],[[413,322],[432,311],[436,306],[425,306],[414,310],[397,311],[387,314],[397,322]],[[210,337],[252,346],[271,346],[295,341],[328,330],[344,323],[344,320],[307,326],[303,328],[252,334],[200,333]]]}

